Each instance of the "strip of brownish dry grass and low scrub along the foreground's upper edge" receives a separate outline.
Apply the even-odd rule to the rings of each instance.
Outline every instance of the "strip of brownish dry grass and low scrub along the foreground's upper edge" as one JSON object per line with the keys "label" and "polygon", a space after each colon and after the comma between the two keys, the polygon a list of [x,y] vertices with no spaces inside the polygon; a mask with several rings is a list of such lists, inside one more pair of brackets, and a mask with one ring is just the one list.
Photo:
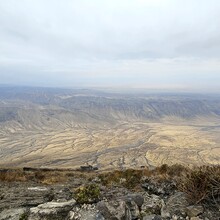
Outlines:
{"label": "strip of brownish dry grass and low scrub along the foreground's upper edge", "polygon": [[135,188],[141,184],[143,177],[156,176],[163,181],[170,176],[179,175],[183,171],[180,165],[162,165],[154,170],[144,169],[126,169],[114,170],[111,172],[79,172],[65,170],[41,170],[23,171],[22,169],[5,169],[0,171],[0,181],[5,182],[27,182],[34,181],[42,184],[56,184],[71,181],[74,178],[84,179],[86,182],[99,177],[101,183],[106,186],[120,185],[129,189]]}

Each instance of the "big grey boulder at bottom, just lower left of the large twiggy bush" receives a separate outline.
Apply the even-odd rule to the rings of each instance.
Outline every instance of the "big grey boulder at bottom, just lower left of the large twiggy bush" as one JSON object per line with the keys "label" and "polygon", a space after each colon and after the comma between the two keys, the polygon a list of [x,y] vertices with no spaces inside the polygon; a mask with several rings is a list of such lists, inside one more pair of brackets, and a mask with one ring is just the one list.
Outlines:
{"label": "big grey boulder at bottom, just lower left of the large twiggy bush", "polygon": [[169,197],[166,204],[162,204],[161,216],[163,218],[169,218],[173,215],[186,217],[187,206],[189,206],[189,202],[186,195],[182,192],[176,192]]}

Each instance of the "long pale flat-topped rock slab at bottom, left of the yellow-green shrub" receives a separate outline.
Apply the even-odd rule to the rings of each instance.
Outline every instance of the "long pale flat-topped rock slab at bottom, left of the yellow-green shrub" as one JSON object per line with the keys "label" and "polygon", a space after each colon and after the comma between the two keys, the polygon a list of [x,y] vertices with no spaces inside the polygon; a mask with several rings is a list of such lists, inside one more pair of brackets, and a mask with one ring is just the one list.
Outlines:
{"label": "long pale flat-topped rock slab at bottom, left of the yellow-green shrub", "polygon": [[29,220],[63,220],[76,204],[74,199],[67,202],[48,202],[30,209]]}

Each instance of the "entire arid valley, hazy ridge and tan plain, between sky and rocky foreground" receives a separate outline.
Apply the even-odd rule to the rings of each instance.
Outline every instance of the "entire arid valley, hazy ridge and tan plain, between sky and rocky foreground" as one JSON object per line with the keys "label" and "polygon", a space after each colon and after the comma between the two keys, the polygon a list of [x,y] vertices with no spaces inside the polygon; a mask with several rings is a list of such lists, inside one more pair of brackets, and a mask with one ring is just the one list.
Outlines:
{"label": "entire arid valley, hazy ridge and tan plain, between sky and rocky foreground", "polygon": [[220,97],[1,88],[0,166],[220,164]]}

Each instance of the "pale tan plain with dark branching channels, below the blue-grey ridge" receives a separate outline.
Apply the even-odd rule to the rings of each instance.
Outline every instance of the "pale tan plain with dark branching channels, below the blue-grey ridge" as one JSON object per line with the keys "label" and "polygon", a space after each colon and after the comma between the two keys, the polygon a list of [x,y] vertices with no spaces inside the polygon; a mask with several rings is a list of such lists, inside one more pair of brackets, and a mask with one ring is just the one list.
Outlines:
{"label": "pale tan plain with dark branching channels, below the blue-grey ridge", "polygon": [[36,127],[4,124],[0,166],[70,167],[85,163],[102,169],[220,164],[220,122],[212,119],[160,123],[120,121],[115,126]]}

